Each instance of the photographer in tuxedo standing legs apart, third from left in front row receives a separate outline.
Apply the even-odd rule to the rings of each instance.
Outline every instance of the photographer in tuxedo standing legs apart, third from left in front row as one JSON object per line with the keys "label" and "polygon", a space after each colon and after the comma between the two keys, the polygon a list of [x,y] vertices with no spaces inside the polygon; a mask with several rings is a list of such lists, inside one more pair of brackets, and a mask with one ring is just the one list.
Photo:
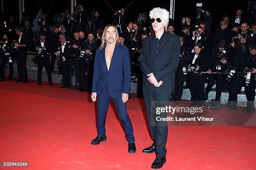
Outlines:
{"label": "photographer in tuxedo standing legs apart, third from left in front row", "polygon": [[52,85],[52,79],[51,79],[51,69],[50,69],[50,57],[47,54],[50,52],[49,49],[49,43],[46,40],[46,33],[41,32],[40,33],[40,40],[36,42],[36,51],[37,51],[37,56],[36,56],[36,64],[38,65],[38,72],[37,72],[37,81],[38,85],[41,85],[42,82],[42,70],[43,66],[45,67],[45,70],[47,72],[47,77],[48,77],[48,82],[49,85]]}

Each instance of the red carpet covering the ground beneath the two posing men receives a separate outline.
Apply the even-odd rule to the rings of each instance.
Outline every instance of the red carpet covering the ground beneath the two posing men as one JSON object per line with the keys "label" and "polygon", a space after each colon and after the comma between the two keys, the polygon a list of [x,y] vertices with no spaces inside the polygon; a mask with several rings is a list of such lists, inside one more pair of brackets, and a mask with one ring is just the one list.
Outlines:
{"label": "red carpet covering the ground beneath the two posing men", "polygon": [[[38,86],[30,80],[0,82],[0,162],[28,161],[29,168],[6,170],[145,170],[154,154],[144,119],[143,100],[128,101],[137,152],[128,154],[123,129],[112,107],[106,120],[107,138],[97,135],[95,110],[87,92]],[[132,95],[134,97],[134,94]],[[172,126],[163,170],[256,170],[256,130],[234,126]]]}

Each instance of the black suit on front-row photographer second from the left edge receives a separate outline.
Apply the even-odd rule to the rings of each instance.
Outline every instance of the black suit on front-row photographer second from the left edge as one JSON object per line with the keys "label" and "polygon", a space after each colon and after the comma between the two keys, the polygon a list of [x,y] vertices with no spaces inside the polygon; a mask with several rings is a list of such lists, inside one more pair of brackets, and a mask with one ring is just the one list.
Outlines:
{"label": "black suit on front-row photographer second from the left edge", "polygon": [[[20,37],[21,36],[21,37]],[[28,72],[27,72],[27,50],[28,50],[28,44],[29,40],[26,34],[22,34],[20,36],[17,36],[16,41],[19,42],[20,38],[20,45],[26,45],[26,47],[18,47],[15,52],[22,52],[23,54],[16,53],[16,58],[17,58],[17,65],[18,65],[18,72],[19,72],[19,79],[23,81],[28,80]]]}

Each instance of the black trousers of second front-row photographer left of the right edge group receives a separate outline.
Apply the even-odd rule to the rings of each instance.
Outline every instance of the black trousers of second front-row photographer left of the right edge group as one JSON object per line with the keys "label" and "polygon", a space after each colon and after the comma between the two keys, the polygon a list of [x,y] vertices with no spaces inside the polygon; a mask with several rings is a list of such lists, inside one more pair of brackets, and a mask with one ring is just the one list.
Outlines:
{"label": "black trousers of second front-row photographer left of the right edge group", "polygon": [[207,84],[207,87],[205,89],[206,95],[212,90],[212,86],[216,84],[216,95],[215,95],[215,100],[220,101],[221,97],[221,91],[222,91],[222,83],[224,80],[224,75],[223,74],[210,74],[209,75],[209,81]]}

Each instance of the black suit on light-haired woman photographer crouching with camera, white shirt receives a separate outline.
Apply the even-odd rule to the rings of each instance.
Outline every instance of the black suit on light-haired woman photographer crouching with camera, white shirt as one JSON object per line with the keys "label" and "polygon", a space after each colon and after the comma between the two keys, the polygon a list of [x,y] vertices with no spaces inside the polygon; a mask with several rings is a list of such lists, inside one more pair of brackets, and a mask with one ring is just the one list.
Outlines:
{"label": "black suit on light-haired woman photographer crouching with camera, white shirt", "polygon": [[[205,72],[208,68],[209,56],[207,52],[200,51],[195,63],[192,63],[195,53],[191,55],[190,65],[195,64],[199,66],[198,72]],[[189,90],[191,94],[191,101],[205,101],[205,74],[198,74],[189,72]]]}

